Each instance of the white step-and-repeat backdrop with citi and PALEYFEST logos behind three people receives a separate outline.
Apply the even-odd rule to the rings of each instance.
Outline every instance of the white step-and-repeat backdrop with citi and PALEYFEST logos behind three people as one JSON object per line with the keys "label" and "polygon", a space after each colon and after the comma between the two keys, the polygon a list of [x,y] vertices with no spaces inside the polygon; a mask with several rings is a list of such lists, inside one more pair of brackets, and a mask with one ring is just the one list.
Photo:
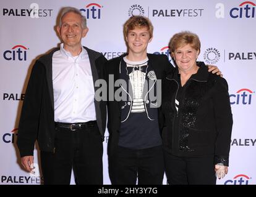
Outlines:
{"label": "white step-and-repeat backdrop with citi and PALEYFEST logos behind three people", "polygon": [[[131,15],[144,15],[153,23],[150,53],[169,57],[167,46],[174,33],[197,33],[202,42],[199,60],[217,65],[228,81],[234,118],[229,172],[217,183],[256,183],[255,0],[6,0],[0,4],[0,184],[41,182],[38,146],[34,153],[36,173],[31,175],[19,165],[15,141],[32,65],[39,55],[60,43],[54,26],[59,9],[64,6],[77,7],[87,17],[89,31],[82,44],[108,59],[126,52],[122,25]],[[108,131],[103,143],[104,183],[110,184]]]}

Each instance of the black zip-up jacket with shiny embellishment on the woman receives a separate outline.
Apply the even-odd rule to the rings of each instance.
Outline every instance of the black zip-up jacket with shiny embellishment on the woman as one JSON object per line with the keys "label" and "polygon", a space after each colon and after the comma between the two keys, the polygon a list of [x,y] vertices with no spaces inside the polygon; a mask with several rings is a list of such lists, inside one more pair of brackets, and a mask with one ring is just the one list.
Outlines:
{"label": "black zip-up jacket with shiny embellishment on the woman", "polygon": [[215,156],[215,164],[228,166],[233,126],[228,83],[201,64],[183,86],[178,112],[178,70],[163,81],[158,115],[163,146],[176,156]]}

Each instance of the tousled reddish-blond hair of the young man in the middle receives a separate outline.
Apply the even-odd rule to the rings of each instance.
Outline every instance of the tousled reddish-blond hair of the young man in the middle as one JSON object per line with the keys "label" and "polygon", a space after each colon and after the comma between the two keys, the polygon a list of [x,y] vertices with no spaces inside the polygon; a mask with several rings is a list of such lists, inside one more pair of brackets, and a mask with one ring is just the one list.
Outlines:
{"label": "tousled reddish-blond hair of the young man in the middle", "polygon": [[153,25],[147,17],[141,15],[135,15],[130,17],[126,23],[124,23],[124,36],[127,37],[127,34],[130,30],[135,28],[147,28],[150,34],[150,38],[153,36]]}

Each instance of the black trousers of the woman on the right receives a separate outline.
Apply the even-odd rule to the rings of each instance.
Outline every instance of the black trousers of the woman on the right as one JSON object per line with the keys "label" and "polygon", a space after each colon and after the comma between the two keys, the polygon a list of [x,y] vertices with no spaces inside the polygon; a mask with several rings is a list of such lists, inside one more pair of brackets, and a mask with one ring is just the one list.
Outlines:
{"label": "black trousers of the woman on the right", "polygon": [[170,185],[216,185],[214,156],[187,158],[164,151],[164,163]]}

